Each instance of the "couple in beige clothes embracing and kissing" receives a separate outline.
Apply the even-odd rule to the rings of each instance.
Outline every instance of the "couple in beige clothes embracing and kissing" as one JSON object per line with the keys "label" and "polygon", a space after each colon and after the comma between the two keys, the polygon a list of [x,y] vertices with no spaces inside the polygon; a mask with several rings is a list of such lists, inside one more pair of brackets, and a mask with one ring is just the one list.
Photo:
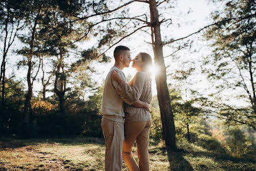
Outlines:
{"label": "couple in beige clothes embracing and kissing", "polygon": [[[141,52],[131,60],[130,49],[126,46],[117,46],[114,58],[115,65],[108,72],[102,96],[105,170],[122,170],[122,157],[130,170],[149,170],[149,104],[152,102],[149,71],[152,58],[148,53]],[[126,83],[122,69],[129,67],[131,61],[137,73]],[[139,165],[133,157],[134,142]]]}

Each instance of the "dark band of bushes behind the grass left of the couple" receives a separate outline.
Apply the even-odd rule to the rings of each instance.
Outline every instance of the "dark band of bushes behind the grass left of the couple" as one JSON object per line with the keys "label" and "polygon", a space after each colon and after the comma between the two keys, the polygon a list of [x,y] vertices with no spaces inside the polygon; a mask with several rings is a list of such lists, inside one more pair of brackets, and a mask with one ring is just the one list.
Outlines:
{"label": "dark band of bushes behind the grass left of the couple", "polygon": [[[62,115],[54,100],[32,98],[33,122],[23,124],[24,85],[13,79],[6,80],[6,110],[1,108],[0,133],[19,137],[42,137],[49,135],[90,135],[102,137],[100,126],[100,103],[102,87],[87,102],[69,99],[67,115]],[[79,103],[77,103],[79,102]],[[75,104],[75,105],[74,105]],[[27,131],[26,131],[27,130]],[[24,134],[26,133],[26,134]]]}

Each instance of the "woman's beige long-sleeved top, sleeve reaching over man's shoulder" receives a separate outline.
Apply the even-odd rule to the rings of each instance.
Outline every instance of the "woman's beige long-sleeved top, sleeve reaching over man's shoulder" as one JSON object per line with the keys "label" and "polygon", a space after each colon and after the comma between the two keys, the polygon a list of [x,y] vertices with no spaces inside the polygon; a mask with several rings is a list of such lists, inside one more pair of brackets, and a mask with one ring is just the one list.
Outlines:
{"label": "woman's beige long-sleeved top, sleeve reaching over man's shoulder", "polygon": [[[146,72],[137,72],[134,78],[126,83],[122,81],[118,85],[118,91],[121,92],[123,101],[138,99],[143,102],[152,102],[151,79]],[[151,116],[145,108],[139,108],[125,104],[125,120],[126,121],[150,121]]]}

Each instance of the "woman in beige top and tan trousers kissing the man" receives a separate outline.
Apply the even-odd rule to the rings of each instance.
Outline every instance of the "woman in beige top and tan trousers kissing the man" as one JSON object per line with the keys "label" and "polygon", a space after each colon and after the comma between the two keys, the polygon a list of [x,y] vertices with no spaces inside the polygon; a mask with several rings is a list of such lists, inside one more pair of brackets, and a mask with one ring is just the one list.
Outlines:
{"label": "woman in beige top and tan trousers kissing the man", "polygon": [[[139,92],[139,100],[152,102],[150,68],[152,58],[148,53],[139,53],[131,67],[137,69],[134,78],[129,81],[129,85]],[[112,77],[121,83],[122,77],[119,72],[113,71]],[[125,104],[125,141],[123,142],[123,158],[130,170],[149,170],[149,129],[151,126],[151,116],[145,108],[138,108]],[[132,149],[134,142],[137,145],[139,165],[134,160]]]}

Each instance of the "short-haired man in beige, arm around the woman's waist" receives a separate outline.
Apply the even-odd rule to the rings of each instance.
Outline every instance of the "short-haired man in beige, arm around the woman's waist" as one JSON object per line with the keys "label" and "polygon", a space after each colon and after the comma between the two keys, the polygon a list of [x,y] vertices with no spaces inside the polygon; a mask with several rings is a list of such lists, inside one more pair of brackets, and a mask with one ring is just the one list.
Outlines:
{"label": "short-haired man in beige, arm around the woman's waist", "polygon": [[[105,170],[122,170],[122,147],[125,139],[123,118],[123,97],[117,91],[118,82],[111,77],[111,71],[116,69],[121,72],[126,81],[123,68],[129,67],[131,62],[130,49],[126,46],[117,46],[114,50],[115,64],[108,72],[102,96],[102,130],[106,139]],[[144,107],[149,110],[149,104],[141,101],[126,99],[127,104],[136,107]]]}

